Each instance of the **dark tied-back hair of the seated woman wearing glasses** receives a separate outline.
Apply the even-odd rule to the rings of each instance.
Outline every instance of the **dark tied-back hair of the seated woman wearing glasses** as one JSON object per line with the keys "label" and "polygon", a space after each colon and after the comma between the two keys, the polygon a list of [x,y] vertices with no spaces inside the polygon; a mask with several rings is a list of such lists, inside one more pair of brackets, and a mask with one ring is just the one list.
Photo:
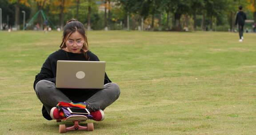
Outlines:
{"label": "dark tied-back hair of the seated woman wearing glasses", "polygon": [[84,50],[88,50],[88,40],[85,33],[84,25],[74,18],[72,18],[71,20],[68,20],[67,24],[64,26],[62,43],[60,44],[60,48],[63,49],[67,47],[65,40],[68,39],[68,37],[76,31],[79,32],[85,40],[84,45],[80,51],[84,54],[85,59],[89,60],[89,57],[84,51]]}

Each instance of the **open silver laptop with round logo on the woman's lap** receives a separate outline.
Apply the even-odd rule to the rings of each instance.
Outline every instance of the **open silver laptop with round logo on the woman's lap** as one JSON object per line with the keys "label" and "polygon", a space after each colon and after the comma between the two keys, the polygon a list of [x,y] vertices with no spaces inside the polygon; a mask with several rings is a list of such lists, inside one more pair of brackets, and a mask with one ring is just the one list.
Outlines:
{"label": "open silver laptop with round logo on the woman's lap", "polygon": [[58,60],[56,88],[102,89],[105,61]]}

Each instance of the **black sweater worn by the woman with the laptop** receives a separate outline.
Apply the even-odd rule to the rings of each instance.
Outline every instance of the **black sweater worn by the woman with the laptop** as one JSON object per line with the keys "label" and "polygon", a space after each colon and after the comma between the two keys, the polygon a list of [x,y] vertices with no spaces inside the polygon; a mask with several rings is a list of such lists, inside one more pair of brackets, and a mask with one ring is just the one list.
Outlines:
{"label": "black sweater worn by the woman with the laptop", "polygon": [[[87,56],[89,56],[89,61],[100,61],[99,58],[93,54],[92,52],[88,51],[86,52]],[[72,53],[72,52],[66,52],[62,49],[52,53],[48,58],[45,60],[41,71],[39,74],[36,75],[36,79],[34,81],[34,89],[36,87],[36,83],[40,80],[48,80],[53,83],[56,83],[56,67],[57,67],[57,60],[80,60],[84,61],[86,60],[84,57],[84,54],[82,53]],[[104,78],[104,84],[111,83],[111,80],[108,78],[107,74],[105,73]],[[60,89],[62,92],[64,92],[67,96],[77,96],[77,95],[83,95],[84,91],[80,91],[80,89],[72,89],[67,90]],[[90,90],[88,90],[90,91]],[[88,92],[87,91],[87,92]]]}

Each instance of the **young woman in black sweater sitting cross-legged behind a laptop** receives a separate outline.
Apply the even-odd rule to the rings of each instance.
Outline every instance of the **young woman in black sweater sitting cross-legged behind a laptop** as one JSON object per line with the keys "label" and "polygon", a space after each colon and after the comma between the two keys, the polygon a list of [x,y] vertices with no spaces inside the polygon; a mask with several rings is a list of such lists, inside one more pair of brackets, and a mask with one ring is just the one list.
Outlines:
{"label": "young woman in black sweater sitting cross-legged behind a laptop", "polygon": [[45,60],[41,71],[36,75],[34,90],[38,99],[43,103],[42,113],[45,119],[61,119],[60,111],[56,108],[59,102],[86,104],[92,119],[102,121],[104,109],[116,101],[120,95],[120,88],[112,83],[105,73],[104,88],[91,89],[57,89],[56,66],[57,60],[89,60],[100,61],[88,50],[88,41],[82,23],[72,19],[64,27],[60,49],[53,52]]}

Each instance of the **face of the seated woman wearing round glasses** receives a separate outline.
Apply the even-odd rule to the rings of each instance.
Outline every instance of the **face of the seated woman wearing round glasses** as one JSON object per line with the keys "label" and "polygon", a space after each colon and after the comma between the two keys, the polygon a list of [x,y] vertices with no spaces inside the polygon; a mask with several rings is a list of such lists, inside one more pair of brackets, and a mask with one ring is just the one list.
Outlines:
{"label": "face of the seated woman wearing round glasses", "polygon": [[68,39],[66,39],[66,51],[72,53],[81,53],[80,50],[84,44],[84,38],[79,32],[72,33]]}

